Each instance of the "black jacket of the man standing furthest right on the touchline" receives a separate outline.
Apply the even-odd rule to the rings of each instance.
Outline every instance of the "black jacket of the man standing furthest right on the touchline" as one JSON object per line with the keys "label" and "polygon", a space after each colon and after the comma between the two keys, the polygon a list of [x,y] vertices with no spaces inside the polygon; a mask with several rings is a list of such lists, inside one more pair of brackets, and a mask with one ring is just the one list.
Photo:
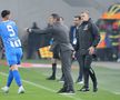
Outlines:
{"label": "black jacket of the man standing furthest right on the touchline", "polygon": [[97,47],[100,41],[100,34],[97,26],[91,21],[82,22],[77,31],[77,50],[87,53],[90,47]]}

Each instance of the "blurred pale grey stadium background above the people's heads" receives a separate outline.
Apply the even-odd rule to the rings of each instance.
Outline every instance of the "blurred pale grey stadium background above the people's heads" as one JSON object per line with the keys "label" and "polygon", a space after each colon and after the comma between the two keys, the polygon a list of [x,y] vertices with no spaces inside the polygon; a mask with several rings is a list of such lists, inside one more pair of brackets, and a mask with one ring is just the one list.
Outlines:
{"label": "blurred pale grey stadium background above the people's heads", "polygon": [[34,21],[40,28],[47,27],[47,18],[52,12],[61,14],[70,26],[73,16],[83,10],[89,10],[91,18],[97,21],[111,4],[118,2],[120,0],[0,0],[0,11],[11,10],[19,27],[20,38],[26,40],[24,28],[30,28]]}

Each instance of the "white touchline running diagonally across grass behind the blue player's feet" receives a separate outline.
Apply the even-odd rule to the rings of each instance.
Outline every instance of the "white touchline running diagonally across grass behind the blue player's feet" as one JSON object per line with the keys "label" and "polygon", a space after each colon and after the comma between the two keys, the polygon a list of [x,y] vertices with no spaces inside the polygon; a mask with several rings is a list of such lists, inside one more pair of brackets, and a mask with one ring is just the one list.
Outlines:
{"label": "white touchline running diagonally across grass behind the blue player's feet", "polygon": [[[4,73],[4,72],[0,72],[0,74],[1,74],[1,76],[6,76],[6,77],[8,76],[8,74]],[[22,80],[22,81],[26,82],[26,83],[28,83],[28,84],[34,86],[34,87],[37,87],[37,88],[40,88],[40,89],[43,89],[43,90],[47,90],[47,91],[50,91],[50,92],[57,92],[56,90],[49,89],[49,88],[47,88],[47,87],[44,87],[44,86],[37,84],[37,83],[31,82],[31,81],[28,81],[28,80]],[[82,99],[76,98],[76,97],[73,97],[73,96],[67,96],[67,94],[61,94],[61,96],[64,96],[64,97],[68,97],[68,98],[72,98],[72,99],[74,99],[74,100],[82,100]]]}

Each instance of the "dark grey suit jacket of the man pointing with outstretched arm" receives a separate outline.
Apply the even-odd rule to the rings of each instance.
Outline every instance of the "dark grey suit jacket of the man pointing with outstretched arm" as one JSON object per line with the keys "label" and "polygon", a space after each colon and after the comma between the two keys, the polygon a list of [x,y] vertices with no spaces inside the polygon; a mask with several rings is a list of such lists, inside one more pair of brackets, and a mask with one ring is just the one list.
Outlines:
{"label": "dark grey suit jacket of the man pointing with outstretched arm", "polygon": [[69,39],[69,30],[60,22],[56,22],[53,26],[46,28],[44,30],[31,29],[31,31],[36,33],[51,33],[54,40],[50,49],[51,51],[57,47],[60,48],[60,51],[73,50]]}

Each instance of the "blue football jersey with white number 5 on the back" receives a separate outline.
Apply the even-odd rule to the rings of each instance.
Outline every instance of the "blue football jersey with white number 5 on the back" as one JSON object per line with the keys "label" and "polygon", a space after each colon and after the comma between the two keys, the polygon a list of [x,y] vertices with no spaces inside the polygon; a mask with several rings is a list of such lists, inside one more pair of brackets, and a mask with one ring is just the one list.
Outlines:
{"label": "blue football jersey with white number 5 on the back", "polygon": [[6,51],[21,47],[17,24],[11,20],[2,21],[0,23],[0,37],[2,38]]}

